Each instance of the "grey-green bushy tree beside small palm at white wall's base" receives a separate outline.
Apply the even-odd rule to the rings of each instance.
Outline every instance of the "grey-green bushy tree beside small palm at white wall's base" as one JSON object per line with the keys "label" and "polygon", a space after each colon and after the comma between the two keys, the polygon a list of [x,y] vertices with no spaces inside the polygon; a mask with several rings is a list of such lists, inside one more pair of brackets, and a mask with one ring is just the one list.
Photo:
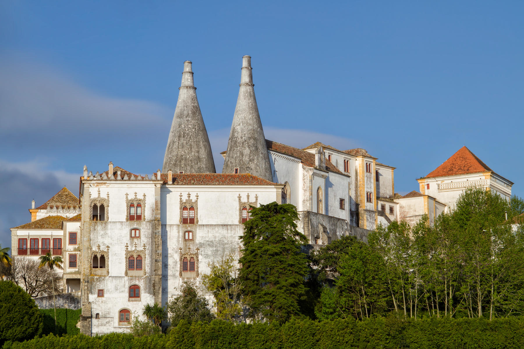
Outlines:
{"label": "grey-green bushy tree beside small palm at white wall's base", "polygon": [[208,307],[208,301],[200,294],[194,284],[184,282],[180,291],[179,296],[173,296],[166,303],[171,327],[176,327],[180,320],[186,320],[188,323],[194,321],[209,322],[215,318]]}

